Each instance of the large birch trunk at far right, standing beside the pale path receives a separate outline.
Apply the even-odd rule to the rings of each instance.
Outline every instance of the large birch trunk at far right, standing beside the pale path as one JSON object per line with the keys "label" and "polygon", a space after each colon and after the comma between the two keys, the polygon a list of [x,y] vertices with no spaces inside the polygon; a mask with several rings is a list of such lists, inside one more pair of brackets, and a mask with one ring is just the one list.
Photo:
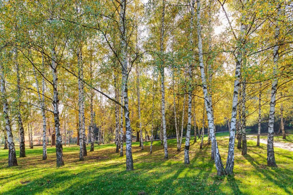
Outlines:
{"label": "large birch trunk at far right, standing beside the pale path", "polygon": [[[278,4],[278,18],[281,16],[281,5]],[[269,115],[269,124],[268,124],[268,144],[267,144],[267,163],[268,166],[276,167],[275,152],[274,152],[274,118],[275,118],[275,105],[276,105],[276,93],[277,93],[277,70],[278,70],[278,60],[279,60],[279,34],[280,27],[279,21],[276,21],[277,25],[275,28],[275,39],[276,45],[273,49],[274,56],[274,66],[273,66],[273,81],[272,81],[272,92],[271,92],[271,101],[270,101],[270,115]]]}

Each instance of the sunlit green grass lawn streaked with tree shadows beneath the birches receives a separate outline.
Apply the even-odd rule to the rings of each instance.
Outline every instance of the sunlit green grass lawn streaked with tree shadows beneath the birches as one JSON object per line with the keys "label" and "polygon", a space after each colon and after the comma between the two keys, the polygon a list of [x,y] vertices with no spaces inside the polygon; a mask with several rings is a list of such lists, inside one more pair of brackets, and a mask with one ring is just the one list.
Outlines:
{"label": "sunlit green grass lawn streaked with tree shadows beneath the birches", "polygon": [[[227,133],[221,135],[217,141],[225,165],[229,140]],[[0,194],[293,194],[293,152],[275,148],[278,167],[267,167],[266,145],[256,147],[249,140],[248,155],[235,149],[234,176],[218,177],[210,146],[200,150],[199,140],[191,143],[191,163],[184,165],[184,151],[176,151],[174,139],[168,140],[168,160],[159,141],[151,155],[150,142],[145,150],[134,142],[134,171],[125,171],[125,156],[115,153],[114,144],[96,145],[83,162],[78,146],[66,146],[61,168],[56,168],[53,147],[45,161],[41,147],[26,148],[18,167],[7,167],[8,151],[0,150]]]}

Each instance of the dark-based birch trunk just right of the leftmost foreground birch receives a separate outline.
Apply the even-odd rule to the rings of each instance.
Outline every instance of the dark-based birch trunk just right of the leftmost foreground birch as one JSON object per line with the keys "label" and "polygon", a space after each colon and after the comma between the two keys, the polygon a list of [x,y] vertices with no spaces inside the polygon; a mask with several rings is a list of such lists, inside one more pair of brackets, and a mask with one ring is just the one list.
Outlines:
{"label": "dark-based birch trunk just right of the leftmost foreground birch", "polygon": [[20,75],[19,75],[19,64],[17,60],[17,49],[14,49],[14,63],[16,65],[16,80],[17,80],[17,118],[18,118],[18,129],[19,129],[19,157],[25,157],[25,143],[24,143],[24,129],[21,119],[20,107],[21,107],[21,88],[20,88]]}

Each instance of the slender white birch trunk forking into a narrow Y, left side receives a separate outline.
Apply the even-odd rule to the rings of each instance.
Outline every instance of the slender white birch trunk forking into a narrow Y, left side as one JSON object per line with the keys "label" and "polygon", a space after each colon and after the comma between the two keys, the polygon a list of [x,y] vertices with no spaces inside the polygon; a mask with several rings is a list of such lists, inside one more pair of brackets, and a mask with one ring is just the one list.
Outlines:
{"label": "slender white birch trunk forking into a narrow Y, left side", "polygon": [[[44,57],[42,56],[42,66],[44,68]],[[37,74],[35,71],[35,66],[33,66],[33,72],[35,76],[35,83],[37,87],[38,97],[39,97],[39,104],[42,111],[42,117],[43,117],[43,160],[47,159],[47,143],[46,143],[46,130],[47,130],[47,124],[46,124],[46,114],[45,114],[45,79],[42,77],[42,98],[40,95],[40,88],[39,83],[37,79]]]}

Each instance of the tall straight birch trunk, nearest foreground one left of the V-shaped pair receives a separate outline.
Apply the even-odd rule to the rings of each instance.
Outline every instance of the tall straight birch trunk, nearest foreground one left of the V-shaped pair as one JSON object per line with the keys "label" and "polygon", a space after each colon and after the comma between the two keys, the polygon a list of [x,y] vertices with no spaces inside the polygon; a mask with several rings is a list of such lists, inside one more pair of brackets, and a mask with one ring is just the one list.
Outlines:
{"label": "tall straight birch trunk, nearest foreground one left of the V-shaped pair", "polygon": [[190,34],[189,34],[189,51],[192,55],[192,59],[190,59],[189,67],[188,67],[188,120],[187,120],[187,129],[186,129],[186,139],[185,139],[185,148],[184,148],[184,164],[189,165],[189,147],[190,147],[190,130],[191,130],[191,109],[192,109],[192,71],[193,71],[193,18],[194,18],[194,4],[195,0],[191,0],[190,2]]}

